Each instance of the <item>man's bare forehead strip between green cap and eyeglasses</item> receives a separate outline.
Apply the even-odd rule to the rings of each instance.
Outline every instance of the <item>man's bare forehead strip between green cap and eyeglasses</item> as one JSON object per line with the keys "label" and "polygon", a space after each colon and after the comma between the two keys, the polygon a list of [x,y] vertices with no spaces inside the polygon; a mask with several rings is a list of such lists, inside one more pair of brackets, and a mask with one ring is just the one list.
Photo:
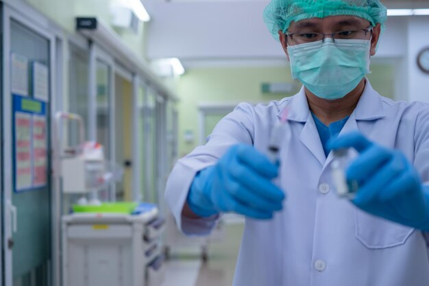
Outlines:
{"label": "man's bare forehead strip between green cap and eyeglasses", "polygon": [[323,27],[329,26],[360,26],[369,25],[369,21],[356,16],[328,16],[326,18],[310,18],[298,22],[292,22],[290,27]]}

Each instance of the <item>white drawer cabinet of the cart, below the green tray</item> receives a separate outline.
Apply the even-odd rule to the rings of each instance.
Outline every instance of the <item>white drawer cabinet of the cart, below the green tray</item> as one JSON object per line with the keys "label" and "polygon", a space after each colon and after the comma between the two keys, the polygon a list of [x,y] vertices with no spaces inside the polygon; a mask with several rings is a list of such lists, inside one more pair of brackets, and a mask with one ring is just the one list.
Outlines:
{"label": "white drawer cabinet of the cart, below the green tray", "polygon": [[138,215],[74,213],[62,218],[63,286],[159,286],[164,276],[154,207]]}

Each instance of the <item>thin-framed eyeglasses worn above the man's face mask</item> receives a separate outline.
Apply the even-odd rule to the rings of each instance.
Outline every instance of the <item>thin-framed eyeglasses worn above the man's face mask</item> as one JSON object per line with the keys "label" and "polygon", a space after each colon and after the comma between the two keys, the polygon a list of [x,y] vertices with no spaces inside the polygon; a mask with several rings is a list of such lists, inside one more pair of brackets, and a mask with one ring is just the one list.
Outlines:
{"label": "thin-framed eyeglasses worn above the man's face mask", "polygon": [[372,27],[368,27],[367,29],[356,29],[352,31],[341,31],[335,33],[316,33],[316,32],[296,32],[286,34],[289,38],[291,38],[292,42],[295,45],[305,44],[305,43],[314,43],[321,40],[325,41],[327,36],[330,36],[335,43],[335,40],[365,40],[367,38],[367,34],[370,33],[372,35]]}

